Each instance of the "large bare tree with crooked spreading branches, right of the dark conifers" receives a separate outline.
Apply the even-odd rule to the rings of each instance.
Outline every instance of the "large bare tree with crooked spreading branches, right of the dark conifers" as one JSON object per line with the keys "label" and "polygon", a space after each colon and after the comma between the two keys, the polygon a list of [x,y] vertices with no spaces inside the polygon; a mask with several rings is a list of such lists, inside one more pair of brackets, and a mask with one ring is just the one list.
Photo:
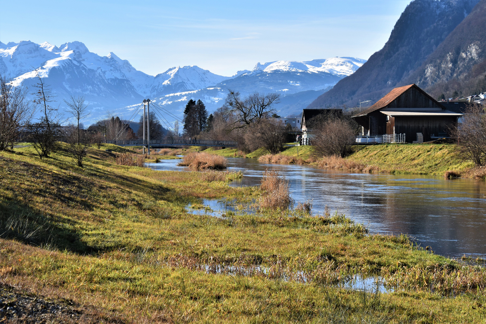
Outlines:
{"label": "large bare tree with crooked spreading branches, right of the dark conifers", "polygon": [[230,112],[236,117],[232,128],[243,128],[275,112],[273,105],[278,103],[279,99],[280,95],[277,93],[260,95],[260,93],[254,92],[242,100],[239,92],[228,90],[223,107],[226,112]]}

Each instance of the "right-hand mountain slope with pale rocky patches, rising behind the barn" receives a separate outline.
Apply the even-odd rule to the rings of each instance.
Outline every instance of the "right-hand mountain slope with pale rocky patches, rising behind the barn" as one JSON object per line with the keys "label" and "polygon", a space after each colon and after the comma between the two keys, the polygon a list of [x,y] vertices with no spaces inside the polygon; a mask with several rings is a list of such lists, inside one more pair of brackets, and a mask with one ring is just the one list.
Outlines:
{"label": "right-hand mountain slope with pale rocky patches, rising behind the barn", "polygon": [[468,96],[486,91],[486,0],[427,57],[404,83],[415,83],[434,98],[454,91]]}

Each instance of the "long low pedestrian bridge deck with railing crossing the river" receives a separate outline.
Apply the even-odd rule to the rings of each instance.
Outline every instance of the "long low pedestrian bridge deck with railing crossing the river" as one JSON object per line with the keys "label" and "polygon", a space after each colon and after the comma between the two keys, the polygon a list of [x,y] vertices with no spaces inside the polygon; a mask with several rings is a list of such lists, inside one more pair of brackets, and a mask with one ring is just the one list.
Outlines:
{"label": "long low pedestrian bridge deck with railing crossing the river", "polygon": [[[115,144],[119,146],[147,146],[146,139],[121,139],[121,140],[106,140],[108,144]],[[238,142],[228,140],[207,140],[207,139],[151,139],[150,147],[154,149],[163,147],[178,147],[178,146],[221,146],[221,147],[236,147]]]}

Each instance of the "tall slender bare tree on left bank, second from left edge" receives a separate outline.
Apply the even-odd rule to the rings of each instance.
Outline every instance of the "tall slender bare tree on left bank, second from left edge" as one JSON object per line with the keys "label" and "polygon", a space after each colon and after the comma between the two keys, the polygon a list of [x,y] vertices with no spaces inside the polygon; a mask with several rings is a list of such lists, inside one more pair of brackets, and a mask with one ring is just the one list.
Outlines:
{"label": "tall slender bare tree on left bank, second from left edge", "polygon": [[39,81],[35,88],[37,91],[34,103],[40,107],[41,116],[35,123],[29,123],[27,129],[30,132],[32,147],[34,147],[39,157],[47,157],[55,150],[57,141],[61,137],[61,125],[59,122],[59,114],[57,109],[54,109],[50,102],[53,102],[52,89],[46,85],[37,73]]}

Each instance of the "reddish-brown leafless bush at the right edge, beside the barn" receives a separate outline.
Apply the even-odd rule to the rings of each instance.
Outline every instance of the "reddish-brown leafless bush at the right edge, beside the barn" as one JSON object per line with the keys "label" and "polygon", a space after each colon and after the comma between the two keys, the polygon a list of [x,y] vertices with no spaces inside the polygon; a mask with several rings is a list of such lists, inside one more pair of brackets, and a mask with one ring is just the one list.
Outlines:
{"label": "reddish-brown leafless bush at the right edge, beside the barn", "polygon": [[451,137],[457,141],[457,149],[464,158],[483,166],[486,163],[485,108],[469,104],[461,119],[461,123],[451,127]]}

